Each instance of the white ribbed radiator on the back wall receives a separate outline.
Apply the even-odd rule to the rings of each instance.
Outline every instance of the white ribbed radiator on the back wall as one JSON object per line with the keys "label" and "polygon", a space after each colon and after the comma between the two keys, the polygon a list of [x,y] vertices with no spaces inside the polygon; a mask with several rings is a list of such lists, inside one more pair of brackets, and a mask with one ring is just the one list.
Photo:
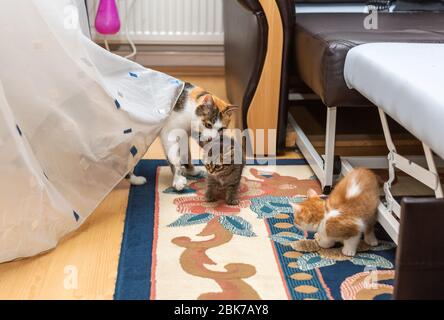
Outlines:
{"label": "white ribbed radiator on the back wall", "polygon": [[[87,3],[91,33],[103,39],[94,29],[99,0]],[[128,28],[136,44],[223,44],[222,0],[117,0],[117,5],[121,30],[107,36],[110,42],[125,42]]]}

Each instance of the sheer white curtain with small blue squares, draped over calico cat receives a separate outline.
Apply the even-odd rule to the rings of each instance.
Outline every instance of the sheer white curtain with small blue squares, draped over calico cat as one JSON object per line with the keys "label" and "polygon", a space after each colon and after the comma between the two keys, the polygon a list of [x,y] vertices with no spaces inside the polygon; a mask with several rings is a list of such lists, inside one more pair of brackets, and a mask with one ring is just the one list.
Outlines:
{"label": "sheer white curtain with small blue squares, draped over calico cat", "polygon": [[78,228],[143,156],[183,89],[91,42],[76,3],[0,4],[0,262],[51,249]]}

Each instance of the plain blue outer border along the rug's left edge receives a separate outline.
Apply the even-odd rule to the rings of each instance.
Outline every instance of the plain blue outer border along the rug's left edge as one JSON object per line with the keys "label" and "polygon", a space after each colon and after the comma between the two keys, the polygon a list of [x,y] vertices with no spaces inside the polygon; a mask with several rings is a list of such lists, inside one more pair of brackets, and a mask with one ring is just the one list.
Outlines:
{"label": "plain blue outer border along the rug's left edge", "polygon": [[[259,160],[261,161],[261,159]],[[305,159],[277,159],[275,164],[308,165]],[[264,164],[255,161],[249,165]],[[159,166],[168,166],[168,162],[166,160],[143,159],[139,161],[134,170],[136,175],[146,177],[148,183],[130,187],[120,245],[114,300],[149,300],[150,298],[155,181]],[[147,215],[147,212],[150,214]],[[141,283],[145,283],[145,285],[141,286]]]}

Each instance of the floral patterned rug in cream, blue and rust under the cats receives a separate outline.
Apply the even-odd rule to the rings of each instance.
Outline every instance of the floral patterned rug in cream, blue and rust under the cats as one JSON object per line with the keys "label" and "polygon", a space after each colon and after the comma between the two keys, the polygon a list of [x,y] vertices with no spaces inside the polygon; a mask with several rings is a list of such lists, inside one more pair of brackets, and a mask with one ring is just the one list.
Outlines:
{"label": "floral patterned rug in cream, blue and rust under the cats", "polygon": [[[320,186],[305,160],[247,166],[238,206],[204,201],[205,177],[183,192],[165,161],[143,160],[131,187],[115,299],[390,299],[395,245],[382,239],[355,257],[340,247],[299,252],[312,239],[289,202]],[[306,240],[310,241],[310,240]]]}

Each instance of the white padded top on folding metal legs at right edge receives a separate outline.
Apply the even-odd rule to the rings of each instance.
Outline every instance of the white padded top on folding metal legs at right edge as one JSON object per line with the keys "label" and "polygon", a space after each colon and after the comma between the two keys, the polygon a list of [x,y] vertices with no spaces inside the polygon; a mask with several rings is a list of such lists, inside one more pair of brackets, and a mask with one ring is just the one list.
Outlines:
{"label": "white padded top on folding metal legs at right edge", "polygon": [[444,158],[444,44],[360,45],[347,54],[344,76]]}

